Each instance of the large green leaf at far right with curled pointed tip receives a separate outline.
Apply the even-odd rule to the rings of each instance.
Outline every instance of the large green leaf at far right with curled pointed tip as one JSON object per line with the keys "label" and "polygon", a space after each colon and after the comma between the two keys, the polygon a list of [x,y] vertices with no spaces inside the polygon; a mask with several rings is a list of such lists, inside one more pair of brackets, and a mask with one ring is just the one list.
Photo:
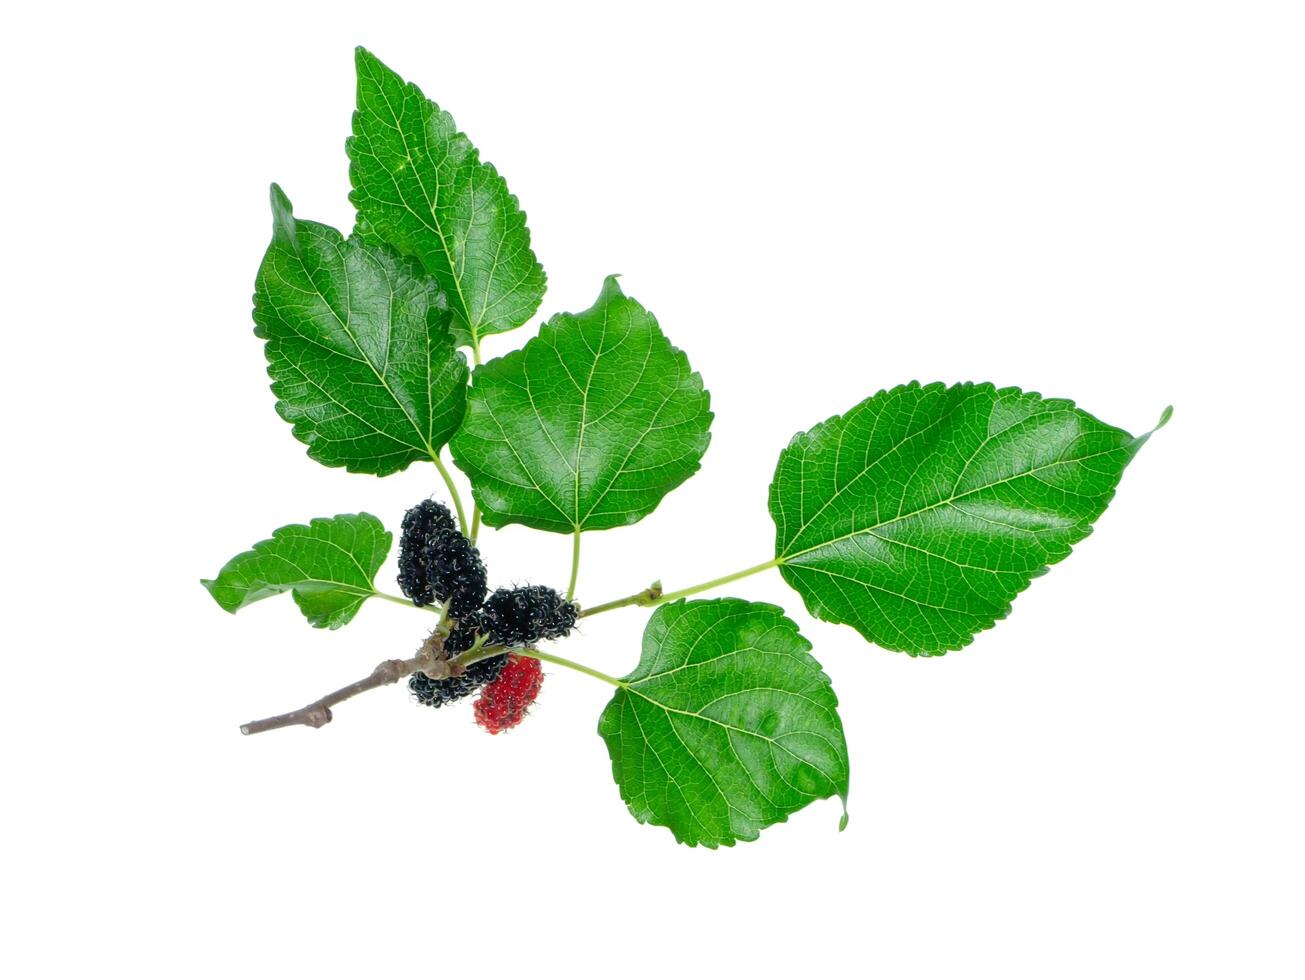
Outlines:
{"label": "large green leaf at far right with curled pointed tip", "polygon": [[880,391],[780,453],[780,573],[870,642],[959,650],[1091,532],[1148,436],[1014,388]]}

